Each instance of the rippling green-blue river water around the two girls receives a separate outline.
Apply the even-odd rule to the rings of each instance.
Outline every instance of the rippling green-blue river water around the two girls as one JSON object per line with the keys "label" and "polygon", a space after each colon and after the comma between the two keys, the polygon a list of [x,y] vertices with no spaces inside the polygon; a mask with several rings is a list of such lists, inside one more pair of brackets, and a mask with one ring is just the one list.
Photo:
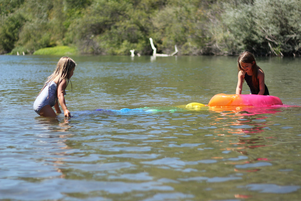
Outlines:
{"label": "rippling green-blue river water around the two girls", "polygon": [[0,55],[1,200],[299,200],[301,58],[257,58],[294,107],[242,111],[181,106],[234,94],[236,57],[73,59],[73,118],[42,118],[59,57]]}

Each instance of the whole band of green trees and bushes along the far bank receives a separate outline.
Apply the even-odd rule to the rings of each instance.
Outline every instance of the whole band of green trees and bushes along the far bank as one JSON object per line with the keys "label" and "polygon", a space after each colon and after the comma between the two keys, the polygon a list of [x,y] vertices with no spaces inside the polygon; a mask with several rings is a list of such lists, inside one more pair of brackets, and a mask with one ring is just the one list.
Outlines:
{"label": "whole band of green trees and bushes along the far bank", "polygon": [[1,0],[0,54],[301,55],[299,0]]}

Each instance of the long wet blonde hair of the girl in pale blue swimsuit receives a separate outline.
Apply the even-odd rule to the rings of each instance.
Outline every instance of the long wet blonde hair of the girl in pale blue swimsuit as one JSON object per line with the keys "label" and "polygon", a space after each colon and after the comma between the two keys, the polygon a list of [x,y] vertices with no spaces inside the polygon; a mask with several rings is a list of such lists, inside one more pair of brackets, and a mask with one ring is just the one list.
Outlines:
{"label": "long wet blonde hair of the girl in pale blue swimsuit", "polygon": [[[49,82],[53,81],[56,77],[58,77],[57,88],[58,88],[59,84],[61,83],[61,81],[64,79],[67,80],[67,85],[68,85],[68,83],[70,81],[70,78],[69,78],[70,71],[73,70],[75,68],[75,66],[76,66],[76,63],[70,57],[60,58],[60,60],[57,62],[57,66],[56,66],[54,72],[47,78],[47,81],[45,82],[45,85],[42,88],[42,90],[40,91],[40,93],[43,91],[45,86]],[[70,81],[70,83],[71,83],[71,81]],[[67,87],[67,85],[66,85],[66,87]],[[56,88],[56,91],[57,91],[57,88]],[[71,90],[72,90],[72,83],[71,83]]]}

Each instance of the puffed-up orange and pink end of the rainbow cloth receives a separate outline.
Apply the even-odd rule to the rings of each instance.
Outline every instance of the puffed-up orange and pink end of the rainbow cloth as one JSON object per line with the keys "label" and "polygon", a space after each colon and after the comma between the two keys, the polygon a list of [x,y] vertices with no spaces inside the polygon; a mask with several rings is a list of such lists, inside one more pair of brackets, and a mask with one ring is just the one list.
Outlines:
{"label": "puffed-up orange and pink end of the rainbow cloth", "polygon": [[276,96],[263,96],[256,94],[216,94],[208,103],[209,106],[256,106],[266,107],[283,105]]}

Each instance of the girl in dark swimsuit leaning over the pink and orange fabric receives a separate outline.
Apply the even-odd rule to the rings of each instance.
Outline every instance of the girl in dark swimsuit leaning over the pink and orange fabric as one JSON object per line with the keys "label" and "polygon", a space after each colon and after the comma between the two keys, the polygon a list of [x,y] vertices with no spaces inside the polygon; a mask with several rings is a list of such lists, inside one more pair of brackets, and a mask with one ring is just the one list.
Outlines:
{"label": "girl in dark swimsuit leaning over the pink and orange fabric", "polygon": [[269,95],[268,87],[264,83],[264,72],[257,66],[254,55],[251,52],[243,52],[239,55],[237,62],[236,94],[241,94],[244,80],[246,80],[251,94]]}

